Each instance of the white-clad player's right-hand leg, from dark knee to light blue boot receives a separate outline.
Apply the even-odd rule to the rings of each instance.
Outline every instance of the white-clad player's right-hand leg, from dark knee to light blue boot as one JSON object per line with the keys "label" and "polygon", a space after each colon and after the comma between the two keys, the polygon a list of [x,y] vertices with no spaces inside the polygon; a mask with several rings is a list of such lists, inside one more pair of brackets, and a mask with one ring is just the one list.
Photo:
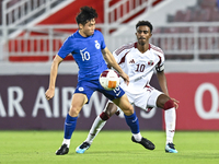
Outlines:
{"label": "white-clad player's right-hand leg, from dark knee to light blue boot", "polygon": [[161,107],[165,110],[164,112],[165,132],[166,132],[165,152],[177,153],[173,144],[173,138],[175,134],[175,121],[176,121],[174,103],[169,96],[161,94],[157,99],[157,105],[158,107]]}

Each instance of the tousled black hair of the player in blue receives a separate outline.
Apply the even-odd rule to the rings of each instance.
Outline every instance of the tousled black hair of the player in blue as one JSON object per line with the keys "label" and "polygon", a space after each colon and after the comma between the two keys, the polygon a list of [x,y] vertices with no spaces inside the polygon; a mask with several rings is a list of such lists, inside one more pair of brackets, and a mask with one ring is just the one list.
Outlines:
{"label": "tousled black hair of the player in blue", "polygon": [[78,24],[85,25],[89,21],[96,17],[97,17],[97,13],[93,8],[82,7],[80,9],[80,13],[78,13],[78,15],[76,16],[76,22]]}

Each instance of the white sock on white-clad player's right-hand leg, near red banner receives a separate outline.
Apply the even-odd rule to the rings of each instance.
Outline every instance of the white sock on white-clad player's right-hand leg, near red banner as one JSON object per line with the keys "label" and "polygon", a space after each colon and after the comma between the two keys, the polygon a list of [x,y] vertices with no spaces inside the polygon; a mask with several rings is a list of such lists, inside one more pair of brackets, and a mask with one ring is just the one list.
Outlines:
{"label": "white sock on white-clad player's right-hand leg, near red banner", "polygon": [[173,143],[173,137],[175,134],[175,108],[165,110],[165,132],[166,132],[166,144]]}

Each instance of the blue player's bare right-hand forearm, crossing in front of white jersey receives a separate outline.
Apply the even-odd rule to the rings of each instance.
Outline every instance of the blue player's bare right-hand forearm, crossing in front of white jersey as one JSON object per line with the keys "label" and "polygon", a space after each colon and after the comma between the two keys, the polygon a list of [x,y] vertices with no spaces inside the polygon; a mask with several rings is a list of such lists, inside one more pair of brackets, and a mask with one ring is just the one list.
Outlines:
{"label": "blue player's bare right-hand forearm, crossing in front of white jersey", "polygon": [[118,63],[116,62],[114,56],[112,55],[112,52],[108,50],[107,47],[105,47],[102,50],[102,54],[103,54],[103,57],[104,57],[105,61],[107,62],[107,65],[110,67],[113,67],[119,73],[119,75],[124,79],[124,81],[128,84],[129,83],[129,77],[118,66]]}

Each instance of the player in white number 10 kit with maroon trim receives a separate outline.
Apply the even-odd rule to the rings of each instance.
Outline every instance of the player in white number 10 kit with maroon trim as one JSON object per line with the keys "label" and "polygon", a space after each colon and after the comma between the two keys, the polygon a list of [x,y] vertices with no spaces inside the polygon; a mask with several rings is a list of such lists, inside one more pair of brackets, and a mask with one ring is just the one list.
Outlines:
{"label": "player in white number 10 kit with maroon trim", "polygon": [[[178,101],[169,96],[162,49],[149,44],[152,30],[150,22],[139,21],[136,24],[137,42],[122,46],[113,55],[120,68],[129,75],[129,84],[126,85],[122,82],[120,87],[126,92],[130,104],[147,112],[154,107],[165,110],[165,152],[177,153],[173,144],[173,137],[176,119],[175,109],[178,107]],[[162,92],[149,84],[154,69]],[[115,113],[118,114],[117,106],[110,101],[103,113],[94,120],[87,140],[77,148],[77,153],[84,153],[90,148],[106,120]],[[136,142],[135,138],[131,139]]]}

